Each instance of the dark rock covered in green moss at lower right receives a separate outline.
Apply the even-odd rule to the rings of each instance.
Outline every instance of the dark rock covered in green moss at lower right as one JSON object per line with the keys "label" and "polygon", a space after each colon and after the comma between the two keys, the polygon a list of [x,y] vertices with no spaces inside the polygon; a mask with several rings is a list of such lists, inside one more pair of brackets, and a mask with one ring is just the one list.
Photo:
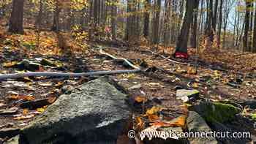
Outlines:
{"label": "dark rock covered in green moss at lower right", "polygon": [[207,122],[218,121],[224,123],[232,121],[236,114],[241,112],[241,109],[230,104],[221,102],[200,102],[190,108],[199,113]]}

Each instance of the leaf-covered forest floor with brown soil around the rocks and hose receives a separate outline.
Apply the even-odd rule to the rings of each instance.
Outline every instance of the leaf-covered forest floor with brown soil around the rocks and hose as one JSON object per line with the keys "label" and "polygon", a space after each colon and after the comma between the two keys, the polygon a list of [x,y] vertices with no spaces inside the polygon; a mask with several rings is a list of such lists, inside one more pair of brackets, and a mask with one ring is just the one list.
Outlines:
{"label": "leaf-covered forest floor with brown soil around the rocks and hose", "polygon": [[[1,31],[5,30],[1,28]],[[23,36],[1,32],[0,74],[31,71],[28,67],[16,67],[24,59],[33,61],[36,65],[39,64],[39,67],[33,68],[38,72],[94,72],[130,69],[99,53],[99,49],[103,49],[113,56],[127,58],[137,66],[146,64],[150,68],[147,74],[140,72],[111,75],[111,77],[126,88],[135,103],[148,99],[153,102],[153,105],[161,105],[170,110],[173,118],[179,115],[181,105],[184,104],[176,99],[177,86],[197,89],[200,91],[200,99],[210,99],[213,102],[228,101],[244,106],[245,102],[256,99],[256,64],[253,60],[256,55],[252,53],[239,55],[230,50],[212,49],[207,50],[208,53],[197,61],[195,50],[191,49],[188,60],[175,59],[172,62],[170,54],[167,53],[173,51],[173,48],[167,49],[170,51],[165,51],[165,53],[161,47],[154,50],[166,57],[162,58],[151,53],[152,49],[146,46],[115,48],[110,45],[88,42],[86,49],[80,50],[79,46],[74,46],[74,44],[71,50],[73,53],[63,54],[56,46],[53,33],[42,32],[40,48],[36,48],[35,37],[34,31],[26,31]],[[42,59],[53,62],[55,66],[40,64]],[[184,64],[177,64],[176,61]],[[197,65],[197,71],[195,65]],[[25,77],[18,80],[0,81],[0,133],[1,129],[5,128],[23,128],[47,107],[47,105],[41,105],[41,107],[31,108],[29,107],[31,105],[28,107],[20,107],[20,105],[38,99],[47,99],[49,104],[53,103],[62,94],[65,86],[75,87],[93,78]],[[204,80],[205,78],[207,80]],[[256,106],[256,102],[250,105]],[[234,131],[249,131],[256,136],[253,128],[254,114],[254,109],[244,107],[241,117],[237,117],[236,121],[229,125]],[[251,140],[246,140],[248,143],[249,141]]]}

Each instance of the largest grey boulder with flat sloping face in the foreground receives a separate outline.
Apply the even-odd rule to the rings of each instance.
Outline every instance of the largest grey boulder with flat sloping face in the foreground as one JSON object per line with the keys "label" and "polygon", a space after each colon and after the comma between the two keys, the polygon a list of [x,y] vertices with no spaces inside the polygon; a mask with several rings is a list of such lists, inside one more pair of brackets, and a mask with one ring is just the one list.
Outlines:
{"label": "largest grey boulder with flat sloping face in the foreground", "polygon": [[64,94],[22,129],[20,140],[39,143],[116,143],[129,121],[127,95],[108,77]]}

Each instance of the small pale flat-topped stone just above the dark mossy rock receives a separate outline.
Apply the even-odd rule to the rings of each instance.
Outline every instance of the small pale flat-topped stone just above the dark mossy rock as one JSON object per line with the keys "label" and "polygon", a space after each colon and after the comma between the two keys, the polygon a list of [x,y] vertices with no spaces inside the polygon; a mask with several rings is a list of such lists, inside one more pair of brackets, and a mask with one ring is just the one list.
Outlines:
{"label": "small pale flat-topped stone just above the dark mossy rock", "polygon": [[183,102],[189,102],[189,99],[192,97],[197,98],[199,96],[199,91],[197,90],[187,90],[187,89],[178,89],[176,91],[176,98],[181,99]]}

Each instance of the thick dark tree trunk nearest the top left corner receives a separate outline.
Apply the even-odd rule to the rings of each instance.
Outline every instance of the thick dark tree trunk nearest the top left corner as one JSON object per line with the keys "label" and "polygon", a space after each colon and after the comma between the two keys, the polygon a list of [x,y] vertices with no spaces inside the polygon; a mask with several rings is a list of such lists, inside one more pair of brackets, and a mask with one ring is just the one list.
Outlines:
{"label": "thick dark tree trunk nearest the top left corner", "polygon": [[9,32],[15,34],[23,34],[23,10],[24,0],[13,0],[12,1],[12,13],[10,17]]}

